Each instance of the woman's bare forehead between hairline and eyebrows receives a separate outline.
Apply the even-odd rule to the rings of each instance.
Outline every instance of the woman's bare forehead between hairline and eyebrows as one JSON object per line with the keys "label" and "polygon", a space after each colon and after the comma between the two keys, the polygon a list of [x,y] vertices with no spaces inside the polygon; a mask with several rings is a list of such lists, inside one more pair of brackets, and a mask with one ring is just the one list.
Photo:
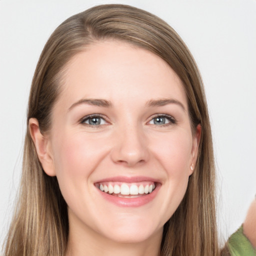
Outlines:
{"label": "woman's bare forehead between hairline and eyebrows", "polygon": [[182,82],[171,67],[152,52],[122,41],[86,46],[63,70],[61,99],[104,98],[133,104],[151,98],[175,97],[187,108]]}

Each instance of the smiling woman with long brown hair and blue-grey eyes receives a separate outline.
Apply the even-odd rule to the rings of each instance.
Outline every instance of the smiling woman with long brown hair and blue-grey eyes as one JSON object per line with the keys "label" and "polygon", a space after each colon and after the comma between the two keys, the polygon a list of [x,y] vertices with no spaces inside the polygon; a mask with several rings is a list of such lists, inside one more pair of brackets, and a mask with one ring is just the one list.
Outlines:
{"label": "smiling woman with long brown hair and blue-grey eyes", "polygon": [[176,32],[101,5],[64,21],[30,90],[5,255],[218,255],[202,82]]}

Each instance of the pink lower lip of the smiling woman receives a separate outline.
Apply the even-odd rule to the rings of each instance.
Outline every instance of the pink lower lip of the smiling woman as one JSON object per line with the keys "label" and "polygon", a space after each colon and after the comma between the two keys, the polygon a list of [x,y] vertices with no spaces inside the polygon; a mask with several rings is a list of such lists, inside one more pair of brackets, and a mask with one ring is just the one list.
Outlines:
{"label": "pink lower lip of the smiling woman", "polygon": [[117,206],[120,206],[120,207],[139,207],[139,206],[142,206],[142,205],[152,201],[153,198],[155,197],[155,195],[157,194],[159,188],[160,188],[160,184],[157,184],[155,186],[155,189],[151,193],[148,193],[146,195],[141,195],[139,197],[134,197],[134,198],[125,198],[125,197],[113,196],[111,194],[102,192],[98,188],[96,188],[96,189],[101,194],[101,196],[103,196],[104,199],[106,199],[107,201],[110,201],[111,203],[114,203]]}

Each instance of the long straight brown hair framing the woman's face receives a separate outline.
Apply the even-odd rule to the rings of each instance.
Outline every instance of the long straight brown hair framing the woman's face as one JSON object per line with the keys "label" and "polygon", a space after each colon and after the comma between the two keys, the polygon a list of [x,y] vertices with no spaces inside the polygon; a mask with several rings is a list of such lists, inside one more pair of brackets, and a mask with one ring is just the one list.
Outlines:
{"label": "long straight brown hair framing the woman's face", "polygon": [[217,255],[214,159],[199,71],[186,45],[167,23],[144,10],[121,4],[99,5],[69,17],[55,29],[42,50],[30,90],[19,198],[4,255],[65,253],[67,206],[56,177],[47,176],[41,167],[28,120],[36,118],[42,133],[50,128],[51,109],[60,95],[65,64],[87,45],[107,38],[126,41],[165,60],[183,83],[192,129],[199,123],[202,127],[195,170],[184,198],[164,225],[160,255]]}

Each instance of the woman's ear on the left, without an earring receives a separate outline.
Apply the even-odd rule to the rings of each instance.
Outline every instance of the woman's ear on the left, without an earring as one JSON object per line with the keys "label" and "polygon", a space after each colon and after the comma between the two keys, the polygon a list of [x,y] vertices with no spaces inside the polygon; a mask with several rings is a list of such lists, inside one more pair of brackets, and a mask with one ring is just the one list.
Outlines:
{"label": "woman's ear on the left, without an earring", "polygon": [[36,118],[29,119],[29,132],[44,172],[49,176],[55,176],[50,140],[46,135],[41,133]]}

